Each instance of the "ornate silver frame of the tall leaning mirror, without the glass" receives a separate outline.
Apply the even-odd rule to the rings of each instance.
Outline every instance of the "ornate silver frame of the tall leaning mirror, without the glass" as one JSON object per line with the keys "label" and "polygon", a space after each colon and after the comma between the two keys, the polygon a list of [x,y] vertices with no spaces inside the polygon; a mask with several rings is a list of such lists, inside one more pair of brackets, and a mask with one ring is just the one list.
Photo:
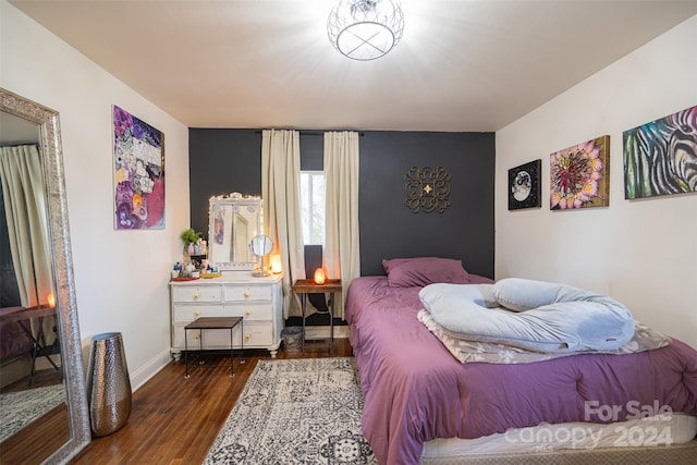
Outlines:
{"label": "ornate silver frame of the tall leaning mirror, without the glass", "polygon": [[59,113],[3,88],[0,88],[0,111],[32,121],[40,130],[41,164],[56,285],[56,315],[70,424],[70,439],[44,463],[66,463],[91,441],[91,432],[77,321]]}

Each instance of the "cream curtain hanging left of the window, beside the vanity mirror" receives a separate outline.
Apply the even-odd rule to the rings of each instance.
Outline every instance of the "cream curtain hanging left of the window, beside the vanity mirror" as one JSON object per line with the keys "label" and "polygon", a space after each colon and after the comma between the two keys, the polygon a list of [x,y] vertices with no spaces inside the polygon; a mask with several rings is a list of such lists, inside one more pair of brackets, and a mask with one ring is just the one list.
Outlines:
{"label": "cream curtain hanging left of the window, beside the vanity mirror", "polygon": [[283,318],[302,314],[292,285],[305,278],[301,222],[301,143],[297,131],[261,133],[261,197],[264,229],[283,266]]}

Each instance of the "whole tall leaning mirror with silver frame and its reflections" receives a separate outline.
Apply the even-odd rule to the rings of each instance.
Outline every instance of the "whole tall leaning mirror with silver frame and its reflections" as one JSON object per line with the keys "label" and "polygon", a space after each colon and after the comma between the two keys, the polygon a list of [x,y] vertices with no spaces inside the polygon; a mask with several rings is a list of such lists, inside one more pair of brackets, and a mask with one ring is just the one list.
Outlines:
{"label": "whole tall leaning mirror with silver frame and its reflections", "polygon": [[66,463],[90,429],[59,115],[0,88],[0,463]]}

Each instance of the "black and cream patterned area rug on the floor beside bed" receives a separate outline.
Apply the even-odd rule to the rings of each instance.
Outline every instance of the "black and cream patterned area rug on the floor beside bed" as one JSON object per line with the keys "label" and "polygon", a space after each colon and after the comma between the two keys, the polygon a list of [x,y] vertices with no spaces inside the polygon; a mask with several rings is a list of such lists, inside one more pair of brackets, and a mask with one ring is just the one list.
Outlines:
{"label": "black and cream patterned area rug on the floor beside bed", "polygon": [[377,464],[362,412],[353,357],[259,360],[204,464]]}

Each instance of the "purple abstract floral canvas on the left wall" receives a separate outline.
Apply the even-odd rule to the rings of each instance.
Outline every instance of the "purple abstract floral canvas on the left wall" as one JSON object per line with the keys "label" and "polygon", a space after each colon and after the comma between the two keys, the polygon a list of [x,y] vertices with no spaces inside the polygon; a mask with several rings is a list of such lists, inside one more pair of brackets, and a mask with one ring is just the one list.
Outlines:
{"label": "purple abstract floral canvas on the left wall", "polygon": [[164,134],[113,106],[115,229],[164,229]]}

